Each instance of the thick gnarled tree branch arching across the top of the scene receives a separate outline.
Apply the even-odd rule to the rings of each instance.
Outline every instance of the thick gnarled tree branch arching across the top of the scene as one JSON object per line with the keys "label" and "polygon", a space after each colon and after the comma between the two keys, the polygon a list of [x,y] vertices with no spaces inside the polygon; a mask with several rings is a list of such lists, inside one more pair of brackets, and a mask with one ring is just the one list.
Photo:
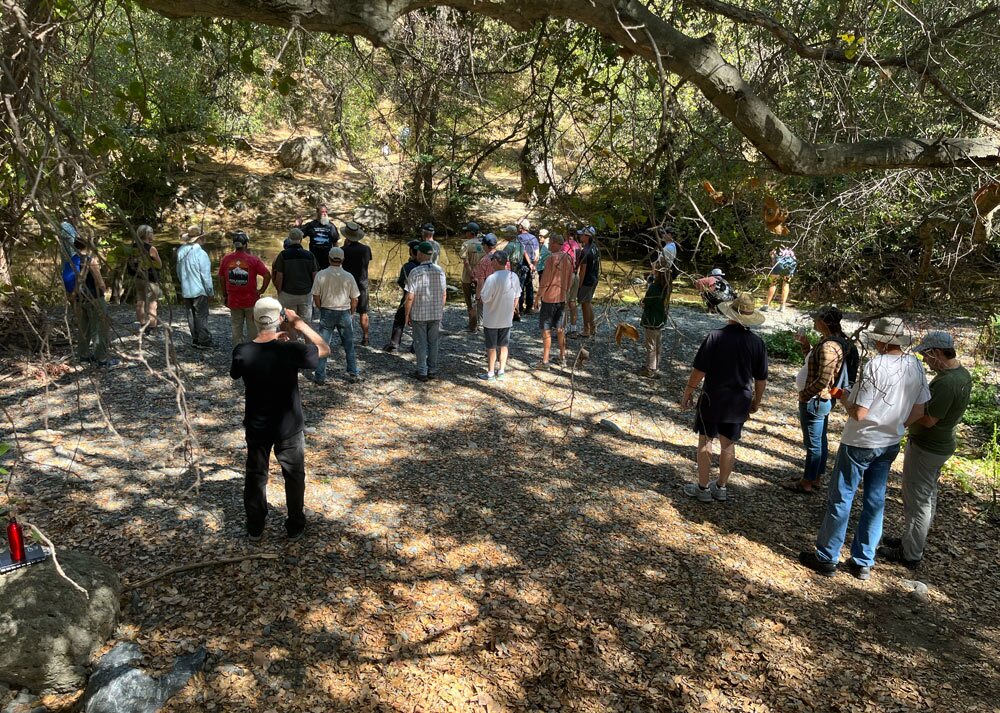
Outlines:
{"label": "thick gnarled tree branch arching across the top of the scene", "polygon": [[547,17],[598,30],[633,54],[691,82],[774,167],[787,174],[828,176],[897,168],[983,167],[1000,164],[1000,138],[884,137],[819,144],[797,136],[771,110],[711,38],[678,31],[638,0],[139,0],[170,17],[229,17],[392,41],[401,15],[445,5],[480,13],[517,29]]}

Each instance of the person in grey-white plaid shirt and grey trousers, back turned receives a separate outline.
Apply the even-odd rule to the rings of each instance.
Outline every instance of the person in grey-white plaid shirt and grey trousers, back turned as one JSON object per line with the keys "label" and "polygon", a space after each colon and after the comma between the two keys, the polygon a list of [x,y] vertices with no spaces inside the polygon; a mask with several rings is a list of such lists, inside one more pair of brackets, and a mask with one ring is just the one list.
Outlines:
{"label": "person in grey-white plaid shirt and grey trousers, back turned", "polygon": [[418,381],[429,381],[437,375],[438,345],[445,291],[444,270],[435,265],[434,246],[426,240],[417,246],[419,265],[406,279],[406,323],[413,327],[413,347],[417,354]]}

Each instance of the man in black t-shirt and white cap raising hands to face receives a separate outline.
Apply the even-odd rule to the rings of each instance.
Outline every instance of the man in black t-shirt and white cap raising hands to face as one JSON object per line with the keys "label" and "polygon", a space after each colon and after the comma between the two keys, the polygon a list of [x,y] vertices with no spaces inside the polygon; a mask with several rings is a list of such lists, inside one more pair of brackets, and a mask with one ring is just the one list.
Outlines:
{"label": "man in black t-shirt and white cap raising hands to face", "polygon": [[[251,542],[260,542],[263,537],[267,470],[273,448],[285,480],[288,507],[285,530],[290,540],[297,540],[306,526],[305,422],[299,398],[299,369],[315,369],[321,357],[329,356],[330,347],[305,320],[290,309],[282,309],[273,297],[258,300],[253,317],[257,336],[233,349],[229,367],[229,375],[243,379],[246,387],[243,427],[247,469],[243,505],[247,512],[247,535]],[[308,343],[290,341],[288,332],[279,329],[296,330]]]}

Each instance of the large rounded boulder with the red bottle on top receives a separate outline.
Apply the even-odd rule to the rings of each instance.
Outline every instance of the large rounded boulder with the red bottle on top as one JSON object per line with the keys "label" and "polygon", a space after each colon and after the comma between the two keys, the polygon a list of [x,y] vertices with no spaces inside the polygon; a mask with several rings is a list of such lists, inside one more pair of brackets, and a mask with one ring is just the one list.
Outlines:
{"label": "large rounded boulder with the red bottle on top", "polygon": [[0,681],[36,692],[78,690],[94,650],[118,624],[122,587],[114,570],[83,552],[59,552],[59,563],[90,599],[51,559],[0,576]]}

